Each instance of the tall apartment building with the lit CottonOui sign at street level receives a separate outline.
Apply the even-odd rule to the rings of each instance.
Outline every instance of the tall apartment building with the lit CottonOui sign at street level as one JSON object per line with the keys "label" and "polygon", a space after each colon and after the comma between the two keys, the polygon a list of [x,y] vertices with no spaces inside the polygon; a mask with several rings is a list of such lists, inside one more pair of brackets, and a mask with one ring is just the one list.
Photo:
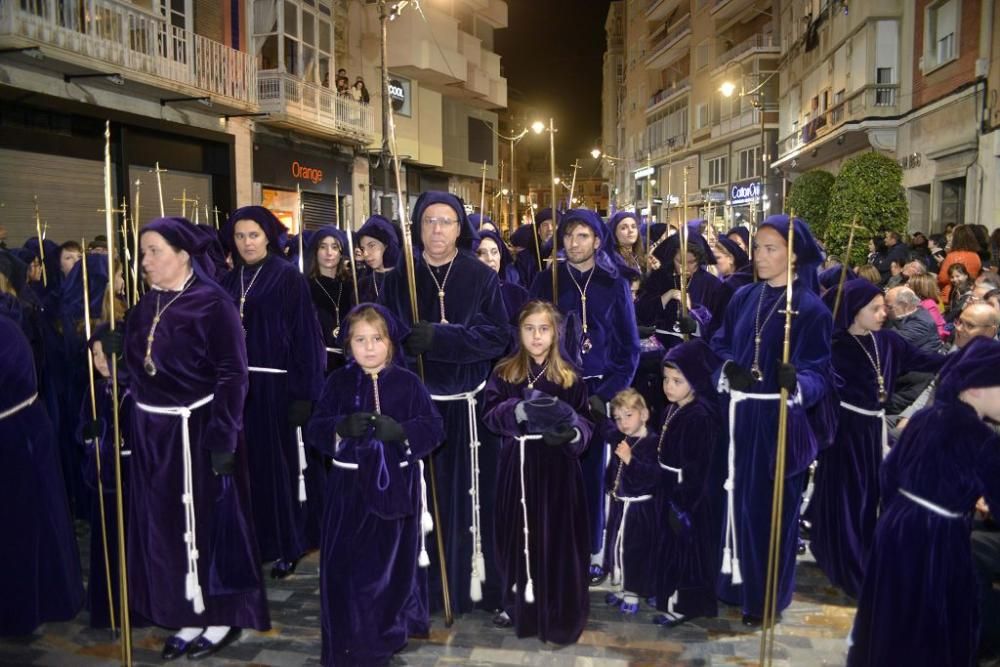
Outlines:
{"label": "tall apartment building with the lit CottonOui sign at street level", "polygon": [[651,201],[657,221],[711,208],[720,226],[780,207],[765,168],[778,127],[773,4],[626,2],[620,200],[638,210]]}

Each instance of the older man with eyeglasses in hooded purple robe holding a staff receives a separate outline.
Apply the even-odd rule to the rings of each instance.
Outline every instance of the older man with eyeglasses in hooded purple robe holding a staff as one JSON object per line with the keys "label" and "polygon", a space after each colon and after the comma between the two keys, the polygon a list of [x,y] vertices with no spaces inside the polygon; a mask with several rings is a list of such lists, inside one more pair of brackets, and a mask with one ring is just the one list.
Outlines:
{"label": "older man with eyeglasses in hooded purple robe holding a staff", "polygon": [[[434,454],[439,507],[447,554],[448,584],[456,611],[480,602],[500,606],[493,565],[493,495],[496,451],[478,450],[488,437],[481,392],[510,340],[497,274],[472,253],[476,232],[462,200],[425,192],[413,207],[414,276],[420,315],[413,322],[406,271],[387,274],[382,301],[411,327],[403,341],[409,367],[423,356],[424,382],[444,418],[445,442]],[[480,453],[481,452],[481,453]],[[470,539],[469,533],[472,532]],[[431,608],[439,608],[441,582],[436,550],[428,569]],[[477,565],[485,559],[486,571]],[[479,584],[472,583],[473,572]],[[479,589],[481,587],[481,594]]]}

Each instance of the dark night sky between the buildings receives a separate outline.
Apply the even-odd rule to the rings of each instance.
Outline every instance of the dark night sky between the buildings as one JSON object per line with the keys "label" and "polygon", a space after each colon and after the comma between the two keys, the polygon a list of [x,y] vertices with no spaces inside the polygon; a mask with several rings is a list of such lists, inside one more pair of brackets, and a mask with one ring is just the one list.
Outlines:
{"label": "dark night sky between the buildings", "polygon": [[600,141],[604,19],[610,4],[508,0],[509,27],[494,39],[509,97],[555,118],[557,169],[589,158]]}

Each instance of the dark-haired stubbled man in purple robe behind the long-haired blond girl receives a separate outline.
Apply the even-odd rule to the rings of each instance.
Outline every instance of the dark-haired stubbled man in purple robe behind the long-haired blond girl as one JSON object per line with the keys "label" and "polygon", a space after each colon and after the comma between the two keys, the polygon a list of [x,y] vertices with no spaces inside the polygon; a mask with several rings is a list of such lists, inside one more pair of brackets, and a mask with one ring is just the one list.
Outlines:
{"label": "dark-haired stubbled man in purple robe behind the long-haired blond girl", "polygon": [[557,261],[535,276],[530,293],[532,298],[551,301],[552,271],[557,270],[556,305],[579,323],[580,330],[574,332],[578,340],[567,340],[567,345],[582,353],[583,378],[598,425],[580,459],[591,524],[591,583],[596,585],[607,576],[602,567],[605,447],[600,425],[608,416],[608,401],[632,383],[639,365],[639,334],[628,280],[602,247],[607,226],[586,209],[572,209],[561,217],[557,233],[566,261]]}

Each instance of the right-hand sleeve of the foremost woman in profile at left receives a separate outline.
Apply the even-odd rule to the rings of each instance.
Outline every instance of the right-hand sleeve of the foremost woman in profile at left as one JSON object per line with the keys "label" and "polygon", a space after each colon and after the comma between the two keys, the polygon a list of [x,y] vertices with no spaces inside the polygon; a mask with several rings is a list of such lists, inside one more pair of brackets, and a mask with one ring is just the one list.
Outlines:
{"label": "right-hand sleeve of the foremost woman in profile at left", "polygon": [[208,326],[211,330],[206,330],[206,356],[215,364],[215,398],[210,404],[212,418],[202,442],[213,451],[235,452],[250,383],[246,339],[236,305],[220,298]]}

